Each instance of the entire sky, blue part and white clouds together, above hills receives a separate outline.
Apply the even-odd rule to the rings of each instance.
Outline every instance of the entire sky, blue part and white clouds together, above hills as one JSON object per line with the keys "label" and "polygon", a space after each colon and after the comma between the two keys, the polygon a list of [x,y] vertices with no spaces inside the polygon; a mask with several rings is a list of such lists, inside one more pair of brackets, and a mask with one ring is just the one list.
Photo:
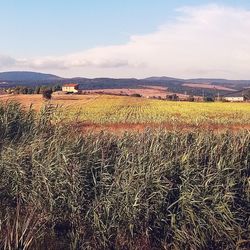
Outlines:
{"label": "entire sky, blue part and white clouds together, above hills", "polygon": [[249,0],[0,0],[0,72],[250,79]]}

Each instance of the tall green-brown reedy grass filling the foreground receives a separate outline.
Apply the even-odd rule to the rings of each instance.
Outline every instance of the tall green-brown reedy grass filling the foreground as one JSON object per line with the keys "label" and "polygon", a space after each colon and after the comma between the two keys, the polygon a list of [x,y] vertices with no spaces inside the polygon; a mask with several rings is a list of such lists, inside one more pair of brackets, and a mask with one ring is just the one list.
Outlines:
{"label": "tall green-brown reedy grass filling the foreground", "polygon": [[250,247],[248,131],[79,134],[52,111],[0,106],[0,248]]}

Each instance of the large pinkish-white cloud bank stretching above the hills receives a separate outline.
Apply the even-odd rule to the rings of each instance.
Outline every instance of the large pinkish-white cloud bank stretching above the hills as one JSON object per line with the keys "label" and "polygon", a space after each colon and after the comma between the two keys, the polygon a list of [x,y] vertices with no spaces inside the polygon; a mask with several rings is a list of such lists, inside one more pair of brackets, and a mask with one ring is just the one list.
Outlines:
{"label": "large pinkish-white cloud bank stretching above the hills", "polygon": [[60,57],[0,57],[0,67],[84,76],[250,78],[250,11],[206,5],[183,7],[177,13],[176,20],[154,33],[132,36],[123,45]]}

